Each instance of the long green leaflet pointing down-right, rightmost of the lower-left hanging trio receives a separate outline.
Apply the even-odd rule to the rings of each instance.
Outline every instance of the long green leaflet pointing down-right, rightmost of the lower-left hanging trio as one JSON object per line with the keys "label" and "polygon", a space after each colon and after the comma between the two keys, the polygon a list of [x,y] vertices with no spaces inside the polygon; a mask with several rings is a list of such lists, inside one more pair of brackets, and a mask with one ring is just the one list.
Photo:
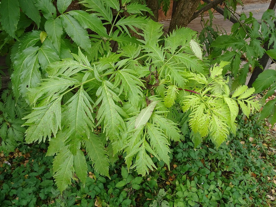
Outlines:
{"label": "long green leaflet pointing down-right, rightmost of the lower-left hanging trio", "polygon": [[89,140],[85,141],[85,147],[87,155],[92,161],[95,171],[109,177],[109,160],[107,157],[107,152],[99,137],[91,132]]}

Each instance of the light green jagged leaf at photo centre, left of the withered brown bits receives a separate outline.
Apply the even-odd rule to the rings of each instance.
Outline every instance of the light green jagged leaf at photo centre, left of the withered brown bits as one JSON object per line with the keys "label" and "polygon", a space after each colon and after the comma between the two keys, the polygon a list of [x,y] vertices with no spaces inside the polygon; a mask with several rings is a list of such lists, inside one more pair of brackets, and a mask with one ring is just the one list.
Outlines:
{"label": "light green jagged leaf at photo centre, left of the withered brown bits", "polygon": [[129,100],[135,107],[138,106],[138,102],[143,97],[142,88],[144,88],[144,84],[136,78],[137,75],[138,74],[131,69],[118,70],[115,74],[114,81],[114,87],[121,84],[119,95],[124,91],[125,99]]}

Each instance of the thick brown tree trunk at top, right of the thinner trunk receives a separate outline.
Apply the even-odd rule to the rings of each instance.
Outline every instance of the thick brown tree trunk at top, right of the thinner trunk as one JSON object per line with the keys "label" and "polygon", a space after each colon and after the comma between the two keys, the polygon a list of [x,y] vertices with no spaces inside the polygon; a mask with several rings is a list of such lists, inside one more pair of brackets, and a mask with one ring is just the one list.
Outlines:
{"label": "thick brown tree trunk at top, right of the thinner trunk", "polygon": [[176,26],[178,28],[187,26],[199,2],[200,0],[179,0],[171,19],[169,32],[175,30]]}

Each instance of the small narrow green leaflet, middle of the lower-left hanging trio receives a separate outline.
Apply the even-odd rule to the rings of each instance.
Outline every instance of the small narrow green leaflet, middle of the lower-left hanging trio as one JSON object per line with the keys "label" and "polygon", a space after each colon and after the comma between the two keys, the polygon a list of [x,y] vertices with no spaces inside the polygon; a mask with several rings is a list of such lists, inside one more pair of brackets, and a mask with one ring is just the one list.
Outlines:
{"label": "small narrow green leaflet, middle of the lower-left hanging trio", "polygon": [[83,151],[80,149],[77,150],[76,155],[74,155],[74,169],[76,172],[76,176],[78,176],[79,180],[85,185],[86,177],[87,177],[87,164],[86,159],[84,157]]}

